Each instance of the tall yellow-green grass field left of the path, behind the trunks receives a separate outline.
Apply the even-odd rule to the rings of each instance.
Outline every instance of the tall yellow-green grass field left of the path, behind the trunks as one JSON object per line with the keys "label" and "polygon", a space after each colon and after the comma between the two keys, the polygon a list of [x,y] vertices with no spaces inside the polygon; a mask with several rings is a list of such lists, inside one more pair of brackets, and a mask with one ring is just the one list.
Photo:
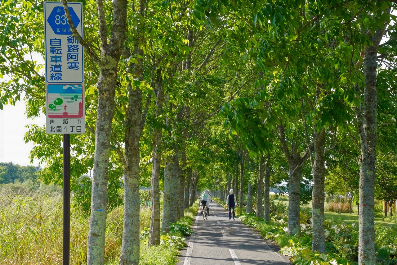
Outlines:
{"label": "tall yellow-green grass field left of the path, behind the trunks", "polygon": [[[58,187],[39,187],[33,192],[23,183],[0,186],[0,264],[62,264],[62,191]],[[196,207],[197,209],[197,207]],[[185,211],[193,217],[194,210]],[[150,224],[150,208],[140,210],[140,228]],[[181,220],[191,224],[191,217]],[[70,264],[85,265],[89,216],[71,209]],[[121,250],[123,207],[108,213],[105,264],[116,265]],[[147,246],[141,243],[140,264],[173,265],[179,250],[170,246]]]}

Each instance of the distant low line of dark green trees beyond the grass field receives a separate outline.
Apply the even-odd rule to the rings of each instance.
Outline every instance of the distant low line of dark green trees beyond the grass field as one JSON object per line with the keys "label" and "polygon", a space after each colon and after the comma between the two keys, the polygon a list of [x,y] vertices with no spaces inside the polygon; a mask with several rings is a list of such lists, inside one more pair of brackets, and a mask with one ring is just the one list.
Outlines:
{"label": "distant low line of dark green trees beyond the grass field", "polygon": [[15,183],[15,181],[26,181],[30,179],[33,183],[39,183],[40,166],[19,166],[12,162],[0,162],[0,184]]}

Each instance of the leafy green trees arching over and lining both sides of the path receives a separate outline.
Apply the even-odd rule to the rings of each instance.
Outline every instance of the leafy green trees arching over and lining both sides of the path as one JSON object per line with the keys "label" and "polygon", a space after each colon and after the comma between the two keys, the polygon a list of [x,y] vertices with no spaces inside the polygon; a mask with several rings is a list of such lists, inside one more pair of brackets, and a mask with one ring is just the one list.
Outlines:
{"label": "leafy green trees arching over and lining both sides of the path", "polygon": [[[135,213],[149,185],[149,244],[197,189],[224,198],[233,187],[240,205],[247,191],[247,210],[256,197],[256,214],[270,220],[269,187],[287,182],[288,232],[299,233],[299,205],[311,200],[313,251],[325,252],[324,181],[347,171],[359,175],[359,263],[375,264],[376,153],[397,139],[392,6],[84,1],[84,38],[71,28],[85,50],[89,132],[71,135],[71,189],[91,206],[87,264],[104,263],[106,214],[122,203],[119,264],[139,263]],[[45,109],[42,65],[26,56],[44,54],[42,9],[0,6],[0,109],[25,93],[28,117]],[[61,136],[32,125],[25,140],[37,143],[31,157],[46,163],[44,182],[62,184]]]}

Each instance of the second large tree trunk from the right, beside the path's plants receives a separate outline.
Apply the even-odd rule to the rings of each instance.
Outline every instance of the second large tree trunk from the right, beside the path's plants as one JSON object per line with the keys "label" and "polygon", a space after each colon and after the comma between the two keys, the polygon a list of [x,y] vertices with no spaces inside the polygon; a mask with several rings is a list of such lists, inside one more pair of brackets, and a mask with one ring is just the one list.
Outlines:
{"label": "second large tree trunk from the right, beside the path's plants", "polygon": [[313,171],[313,191],[312,191],[312,228],[313,241],[312,251],[325,253],[324,235],[324,175],[325,175],[325,156],[324,139],[325,129],[322,128],[314,140],[314,164]]}

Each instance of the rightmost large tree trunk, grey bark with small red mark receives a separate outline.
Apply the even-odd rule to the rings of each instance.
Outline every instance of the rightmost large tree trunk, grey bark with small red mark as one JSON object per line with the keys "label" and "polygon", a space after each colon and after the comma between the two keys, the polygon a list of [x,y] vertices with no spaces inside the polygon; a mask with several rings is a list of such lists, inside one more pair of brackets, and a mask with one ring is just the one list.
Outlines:
{"label": "rightmost large tree trunk, grey bark with small red mark", "polygon": [[[361,144],[359,205],[362,207],[358,214],[359,265],[375,264],[376,68],[379,43],[384,33],[384,28],[378,28],[370,37],[372,45],[368,46],[364,53],[364,113],[361,106],[357,108],[358,135]],[[358,89],[358,85],[356,87]]]}

